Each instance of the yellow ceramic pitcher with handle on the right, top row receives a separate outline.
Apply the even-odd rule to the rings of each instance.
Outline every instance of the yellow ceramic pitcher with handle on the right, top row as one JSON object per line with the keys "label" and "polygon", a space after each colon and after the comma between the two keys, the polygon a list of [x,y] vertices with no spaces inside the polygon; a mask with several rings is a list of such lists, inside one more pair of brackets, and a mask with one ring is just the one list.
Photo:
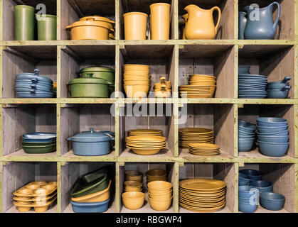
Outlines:
{"label": "yellow ceramic pitcher with handle on the right, top row", "polygon": [[[211,40],[218,31],[220,21],[220,9],[214,6],[212,9],[201,9],[196,5],[188,5],[184,8],[188,13],[185,36],[188,40]],[[213,11],[218,11],[218,22],[214,26]]]}

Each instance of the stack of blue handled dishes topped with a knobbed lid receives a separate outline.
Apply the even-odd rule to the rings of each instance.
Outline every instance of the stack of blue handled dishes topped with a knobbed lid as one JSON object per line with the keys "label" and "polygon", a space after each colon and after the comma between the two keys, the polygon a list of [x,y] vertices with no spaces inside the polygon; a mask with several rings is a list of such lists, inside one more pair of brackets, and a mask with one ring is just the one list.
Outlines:
{"label": "stack of blue handled dishes topped with a knobbed lid", "polygon": [[34,73],[17,74],[15,89],[19,98],[52,98],[54,96],[53,81],[41,76],[39,70],[34,70]]}

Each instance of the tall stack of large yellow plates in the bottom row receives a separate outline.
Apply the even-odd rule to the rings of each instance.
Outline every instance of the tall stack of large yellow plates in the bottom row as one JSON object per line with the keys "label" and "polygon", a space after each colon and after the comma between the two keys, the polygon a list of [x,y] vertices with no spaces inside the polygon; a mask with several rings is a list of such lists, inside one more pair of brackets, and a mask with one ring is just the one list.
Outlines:
{"label": "tall stack of large yellow plates in the bottom row", "polygon": [[179,205],[194,212],[213,212],[225,206],[225,182],[184,179],[179,182]]}

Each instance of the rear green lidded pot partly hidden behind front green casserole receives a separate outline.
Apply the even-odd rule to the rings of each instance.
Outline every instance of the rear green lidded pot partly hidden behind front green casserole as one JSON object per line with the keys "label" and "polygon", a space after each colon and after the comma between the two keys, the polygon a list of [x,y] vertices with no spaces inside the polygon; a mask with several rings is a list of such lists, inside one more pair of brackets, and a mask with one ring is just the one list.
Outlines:
{"label": "rear green lidded pot partly hidden behind front green casserole", "polygon": [[88,74],[93,74],[95,78],[102,78],[111,84],[115,84],[115,70],[110,67],[86,67],[81,69],[78,74],[82,78],[87,78]]}

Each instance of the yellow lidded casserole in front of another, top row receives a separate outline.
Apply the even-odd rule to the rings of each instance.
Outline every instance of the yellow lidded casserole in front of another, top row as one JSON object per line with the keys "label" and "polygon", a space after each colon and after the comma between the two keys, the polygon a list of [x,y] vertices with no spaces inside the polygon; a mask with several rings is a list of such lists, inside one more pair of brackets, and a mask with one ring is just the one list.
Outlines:
{"label": "yellow lidded casserole in front of another, top row", "polygon": [[102,21],[76,21],[67,26],[66,31],[70,31],[72,40],[108,40],[109,28]]}

